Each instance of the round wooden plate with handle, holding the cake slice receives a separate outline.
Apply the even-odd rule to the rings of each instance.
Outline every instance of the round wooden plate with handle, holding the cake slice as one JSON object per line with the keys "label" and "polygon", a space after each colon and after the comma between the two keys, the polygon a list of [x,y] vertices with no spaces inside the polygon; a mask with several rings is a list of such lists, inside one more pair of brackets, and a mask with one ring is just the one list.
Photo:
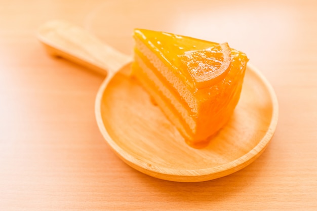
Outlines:
{"label": "round wooden plate with handle, holding the cake slice", "polygon": [[46,23],[38,38],[49,54],[107,75],[96,97],[99,129],[112,150],[144,174],[179,182],[223,177],[253,162],[273,136],[278,101],[268,81],[252,65],[248,65],[231,120],[207,147],[194,149],[129,77],[129,56],[64,21]]}

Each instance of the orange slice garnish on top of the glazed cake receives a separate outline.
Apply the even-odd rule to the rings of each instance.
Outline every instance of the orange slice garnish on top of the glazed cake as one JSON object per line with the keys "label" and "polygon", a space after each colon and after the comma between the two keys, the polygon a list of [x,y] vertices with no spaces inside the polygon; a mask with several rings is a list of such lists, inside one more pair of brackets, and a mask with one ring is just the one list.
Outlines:
{"label": "orange slice garnish on top of the glazed cake", "polygon": [[230,70],[231,50],[227,43],[186,51],[179,57],[198,89],[213,86],[224,79]]}

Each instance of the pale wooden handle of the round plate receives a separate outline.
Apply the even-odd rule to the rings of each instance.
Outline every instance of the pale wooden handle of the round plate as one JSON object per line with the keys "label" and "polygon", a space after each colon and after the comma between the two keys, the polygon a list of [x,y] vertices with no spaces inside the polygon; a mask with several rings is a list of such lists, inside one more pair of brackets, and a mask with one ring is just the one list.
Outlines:
{"label": "pale wooden handle of the round plate", "polygon": [[38,30],[38,39],[52,56],[60,56],[104,75],[115,73],[131,58],[71,23],[54,20]]}

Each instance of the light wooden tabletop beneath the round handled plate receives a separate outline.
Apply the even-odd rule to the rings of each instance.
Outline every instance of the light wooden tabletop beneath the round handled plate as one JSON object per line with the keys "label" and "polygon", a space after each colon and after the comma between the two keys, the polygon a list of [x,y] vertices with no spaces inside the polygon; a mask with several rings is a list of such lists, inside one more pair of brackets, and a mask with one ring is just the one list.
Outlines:
{"label": "light wooden tabletop beneath the round handled plate", "polygon": [[[316,8],[314,1],[1,1],[0,209],[316,210]],[[94,101],[104,77],[49,57],[36,39],[52,19],[82,25],[126,54],[134,27],[228,41],[278,96],[273,139],[252,164],[216,180],[177,183],[135,171],[98,130]]]}

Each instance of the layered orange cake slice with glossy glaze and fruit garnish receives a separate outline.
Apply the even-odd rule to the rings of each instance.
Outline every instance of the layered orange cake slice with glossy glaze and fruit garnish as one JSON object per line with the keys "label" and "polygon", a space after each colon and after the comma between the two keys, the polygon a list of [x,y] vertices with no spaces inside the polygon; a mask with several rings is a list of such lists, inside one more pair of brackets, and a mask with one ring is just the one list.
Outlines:
{"label": "layered orange cake slice with glossy glaze and fruit garnish", "polygon": [[208,143],[239,101],[247,56],[227,43],[135,29],[132,74],[186,142]]}

